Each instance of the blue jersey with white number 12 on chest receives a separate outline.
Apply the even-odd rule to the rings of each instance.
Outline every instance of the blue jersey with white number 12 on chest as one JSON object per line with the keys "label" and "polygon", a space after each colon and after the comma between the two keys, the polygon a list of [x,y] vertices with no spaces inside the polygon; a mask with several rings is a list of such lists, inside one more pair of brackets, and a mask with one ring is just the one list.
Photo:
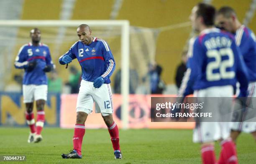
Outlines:
{"label": "blue jersey with white number 12 on chest", "polygon": [[68,52],[59,57],[59,63],[64,65],[62,57],[69,55],[77,58],[82,68],[82,79],[94,82],[97,77],[103,77],[105,84],[110,83],[110,76],[115,70],[115,60],[105,40],[94,37],[90,45],[77,41]]}

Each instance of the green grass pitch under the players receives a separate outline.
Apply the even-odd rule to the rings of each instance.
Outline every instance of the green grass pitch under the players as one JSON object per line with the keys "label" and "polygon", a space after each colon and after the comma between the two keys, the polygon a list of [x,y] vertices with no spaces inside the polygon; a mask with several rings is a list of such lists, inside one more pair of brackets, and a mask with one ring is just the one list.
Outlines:
{"label": "green grass pitch under the players", "polygon": [[[123,159],[115,160],[107,129],[87,129],[82,159],[62,159],[72,149],[73,129],[44,128],[41,143],[27,143],[28,128],[0,128],[0,155],[26,155],[26,162],[8,163],[170,163],[200,164],[200,144],[192,142],[192,130],[136,129],[120,130]],[[256,143],[250,134],[237,142],[240,164],[255,164]],[[215,154],[220,153],[216,142]],[[1,163],[1,162],[0,162]]]}

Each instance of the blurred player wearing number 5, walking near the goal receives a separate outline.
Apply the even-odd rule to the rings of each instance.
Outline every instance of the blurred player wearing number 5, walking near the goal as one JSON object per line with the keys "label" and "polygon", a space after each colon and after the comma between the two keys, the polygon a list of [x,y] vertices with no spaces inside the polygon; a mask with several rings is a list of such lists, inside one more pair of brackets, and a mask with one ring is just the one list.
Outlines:
{"label": "blurred player wearing number 5, walking near the goal", "polygon": [[[32,42],[23,45],[15,59],[14,66],[24,69],[23,102],[26,104],[26,120],[30,127],[28,143],[40,142],[44,127],[44,104],[47,100],[46,72],[54,69],[49,47],[40,42],[41,32],[38,28],[30,31]],[[33,114],[33,102],[36,101],[37,121]]]}

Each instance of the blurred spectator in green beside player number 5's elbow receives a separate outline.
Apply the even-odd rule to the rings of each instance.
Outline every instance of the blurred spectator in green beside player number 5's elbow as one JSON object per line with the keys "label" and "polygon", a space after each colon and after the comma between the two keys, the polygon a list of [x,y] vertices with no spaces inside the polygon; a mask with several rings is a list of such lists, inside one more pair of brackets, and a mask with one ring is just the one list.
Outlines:
{"label": "blurred spectator in green beside player number 5's elbow", "polygon": [[62,89],[62,79],[58,76],[58,72],[56,70],[51,72],[51,76],[48,79],[48,91],[61,93]]}

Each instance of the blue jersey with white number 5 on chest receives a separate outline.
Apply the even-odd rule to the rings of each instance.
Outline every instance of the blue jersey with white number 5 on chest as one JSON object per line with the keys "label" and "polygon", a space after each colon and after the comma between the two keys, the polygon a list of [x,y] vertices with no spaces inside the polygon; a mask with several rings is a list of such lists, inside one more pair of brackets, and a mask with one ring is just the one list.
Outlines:
{"label": "blue jersey with white number 5 on chest", "polygon": [[[26,69],[28,62],[36,60],[37,65],[32,70],[29,71]],[[32,43],[23,45],[19,52],[18,56],[15,59],[14,66],[19,69],[25,69],[23,76],[23,84],[47,84],[46,73],[43,69],[46,65],[54,67],[53,62],[51,61],[51,54],[49,47],[45,44],[39,43],[39,46],[33,46]]]}

